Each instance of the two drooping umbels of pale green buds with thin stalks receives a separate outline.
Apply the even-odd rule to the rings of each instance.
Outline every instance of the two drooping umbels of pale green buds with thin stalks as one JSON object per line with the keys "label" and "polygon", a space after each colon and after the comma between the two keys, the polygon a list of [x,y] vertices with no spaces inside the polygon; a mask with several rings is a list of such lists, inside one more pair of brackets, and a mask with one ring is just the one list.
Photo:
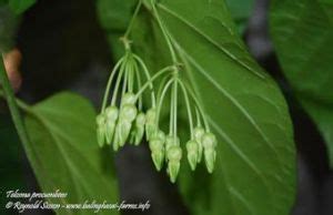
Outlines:
{"label": "two drooping umbels of pale green buds with thin stalks", "polygon": [[[160,171],[167,163],[171,182],[175,182],[183,157],[183,149],[178,136],[180,101],[185,101],[189,119],[191,135],[185,143],[185,150],[190,167],[194,171],[196,164],[204,157],[208,172],[212,173],[216,156],[215,135],[210,132],[206,116],[194,92],[180,78],[180,70],[179,65],[167,66],[151,76],[144,62],[127,50],[111,72],[102,110],[97,116],[100,146],[112,143],[113,150],[118,151],[127,142],[139,145],[145,135],[154,166]],[[142,76],[147,80],[144,83],[141,83]],[[153,82],[158,78],[162,81],[159,82],[158,93],[155,93]],[[107,105],[113,82],[113,95],[110,105]],[[144,112],[142,100],[147,91],[151,93],[151,108]],[[184,100],[180,100],[181,95]],[[170,102],[167,102],[167,98],[170,98]],[[167,104],[170,104],[168,134],[159,126],[161,110],[168,108]],[[193,114],[196,116],[195,124]]]}

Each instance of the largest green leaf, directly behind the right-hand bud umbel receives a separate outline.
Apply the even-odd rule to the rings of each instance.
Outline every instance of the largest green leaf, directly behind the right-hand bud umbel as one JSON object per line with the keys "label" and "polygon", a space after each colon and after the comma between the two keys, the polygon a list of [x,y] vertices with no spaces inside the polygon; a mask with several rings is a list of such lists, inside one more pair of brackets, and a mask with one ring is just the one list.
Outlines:
{"label": "largest green leaf, directly behind the right-hand bud umbel", "polygon": [[[158,2],[185,66],[182,79],[200,95],[219,140],[213,174],[203,166],[193,173],[183,160],[179,186],[189,209],[194,215],[290,214],[295,152],[287,106],[278,85],[248,53],[224,1]],[[134,51],[155,72],[171,60],[150,6],[147,8],[131,39]],[[185,113],[183,104],[179,109]],[[188,129],[185,123],[179,126]]]}

